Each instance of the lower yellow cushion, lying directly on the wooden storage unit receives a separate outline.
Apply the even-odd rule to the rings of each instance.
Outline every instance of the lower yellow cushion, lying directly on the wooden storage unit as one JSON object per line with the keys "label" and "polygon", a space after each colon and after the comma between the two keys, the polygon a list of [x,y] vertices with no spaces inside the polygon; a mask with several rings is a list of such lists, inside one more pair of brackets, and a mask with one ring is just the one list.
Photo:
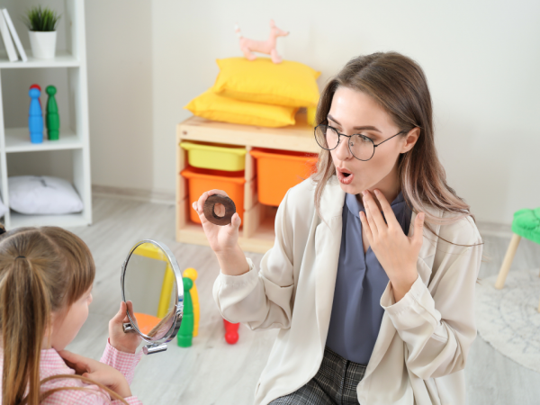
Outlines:
{"label": "lower yellow cushion, lying directly on the wooden storage unit", "polygon": [[261,127],[284,127],[294,125],[294,114],[298,110],[282,105],[248,103],[223,97],[211,90],[195,97],[185,109],[202,118]]}

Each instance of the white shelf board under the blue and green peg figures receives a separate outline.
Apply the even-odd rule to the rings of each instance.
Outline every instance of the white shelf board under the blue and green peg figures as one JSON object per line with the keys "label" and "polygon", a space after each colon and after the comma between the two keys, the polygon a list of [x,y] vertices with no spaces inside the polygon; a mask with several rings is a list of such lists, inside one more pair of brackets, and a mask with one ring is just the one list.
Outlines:
{"label": "white shelf board under the blue and green peg figures", "polygon": [[40,150],[61,150],[83,148],[83,141],[71,129],[60,129],[60,139],[49,140],[43,131],[42,143],[31,143],[28,128],[5,129],[5,152],[35,152]]}

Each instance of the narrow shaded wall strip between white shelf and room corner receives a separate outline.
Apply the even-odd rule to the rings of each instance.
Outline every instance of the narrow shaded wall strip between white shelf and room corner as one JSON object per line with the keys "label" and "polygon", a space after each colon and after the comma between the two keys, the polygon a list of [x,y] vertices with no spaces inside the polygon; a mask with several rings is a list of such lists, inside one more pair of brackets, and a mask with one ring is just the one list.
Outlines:
{"label": "narrow shaded wall strip between white shelf and room corner", "polygon": [[150,0],[86,0],[92,183],[152,189]]}

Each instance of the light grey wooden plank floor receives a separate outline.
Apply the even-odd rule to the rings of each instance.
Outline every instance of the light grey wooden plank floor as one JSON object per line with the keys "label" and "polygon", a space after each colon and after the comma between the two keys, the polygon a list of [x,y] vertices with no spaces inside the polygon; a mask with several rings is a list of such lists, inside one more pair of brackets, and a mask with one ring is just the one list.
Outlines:
{"label": "light grey wooden plank floor", "polygon": [[[217,260],[210,247],[175,242],[173,205],[94,198],[94,225],[70,230],[83,238],[92,250],[97,275],[90,315],[67,347],[69,350],[99,359],[108,337],[107,323],[118,311],[121,301],[121,264],[137,241],[154,238],[171,248],[181,269],[194,267],[199,272],[200,333],[193,338],[193,347],[176,347],[173,341],[165,353],[144,357],[131,385],[132,392],[145,405],[252,403],[255,385],[266,365],[276,331],[252,332],[241,327],[238,344],[225,343],[220,314],[211,297],[211,287],[219,273]],[[483,237],[484,253],[491,256],[491,261],[482,263],[481,279],[498,272],[509,244],[509,236],[497,232]],[[256,266],[262,257],[249,253],[247,256]],[[540,247],[522,240],[512,269],[535,267],[540,268]],[[473,344],[466,367],[466,383],[469,404],[540,403],[540,374],[500,355],[482,338],[477,338]]]}

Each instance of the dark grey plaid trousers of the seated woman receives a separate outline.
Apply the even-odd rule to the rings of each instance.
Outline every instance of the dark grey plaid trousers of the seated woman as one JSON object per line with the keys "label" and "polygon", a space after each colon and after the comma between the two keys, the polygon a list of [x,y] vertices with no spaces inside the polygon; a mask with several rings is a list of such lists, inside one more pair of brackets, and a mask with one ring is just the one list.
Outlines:
{"label": "dark grey plaid trousers of the seated woman", "polygon": [[356,386],[365,374],[365,365],[348,361],[328,347],[319,372],[297,391],[270,405],[357,405]]}

